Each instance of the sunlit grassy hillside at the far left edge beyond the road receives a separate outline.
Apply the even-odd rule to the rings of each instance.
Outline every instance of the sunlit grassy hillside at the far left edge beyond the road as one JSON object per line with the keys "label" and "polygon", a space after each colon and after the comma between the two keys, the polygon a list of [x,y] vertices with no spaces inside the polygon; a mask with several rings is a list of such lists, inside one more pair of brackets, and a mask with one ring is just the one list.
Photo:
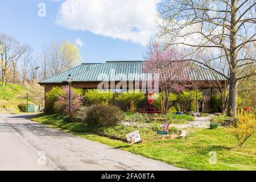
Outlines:
{"label": "sunlit grassy hillside at the far left edge beyond the road", "polygon": [[[2,88],[2,82],[0,82],[0,105],[5,105],[11,109],[11,112],[19,113],[18,105],[26,104],[27,100],[24,99],[26,96],[26,88],[24,88],[24,94],[22,96],[22,86],[18,84],[5,84],[4,89]],[[31,104],[31,102],[29,102]],[[4,111],[1,111],[4,112]]]}

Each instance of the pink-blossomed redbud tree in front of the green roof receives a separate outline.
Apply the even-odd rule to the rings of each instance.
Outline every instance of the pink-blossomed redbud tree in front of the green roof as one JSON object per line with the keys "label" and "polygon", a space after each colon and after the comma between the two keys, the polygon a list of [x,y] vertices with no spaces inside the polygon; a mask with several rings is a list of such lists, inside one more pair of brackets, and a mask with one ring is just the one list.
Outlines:
{"label": "pink-blossomed redbud tree in front of the green roof", "polygon": [[179,61],[183,60],[184,55],[184,49],[164,48],[157,42],[152,42],[147,47],[143,70],[153,77],[158,76],[163,113],[168,110],[170,93],[184,90],[185,82],[189,80],[187,61]]}

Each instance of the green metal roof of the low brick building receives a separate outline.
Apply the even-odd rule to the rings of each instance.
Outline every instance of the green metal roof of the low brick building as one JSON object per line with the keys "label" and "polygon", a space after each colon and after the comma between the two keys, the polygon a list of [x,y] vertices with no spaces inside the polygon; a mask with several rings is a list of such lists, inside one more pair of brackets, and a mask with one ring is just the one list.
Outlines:
{"label": "green metal roof of the low brick building", "polygon": [[[81,64],[68,71],[40,81],[40,84],[61,83],[70,74],[74,82],[86,81],[140,81],[148,80],[150,74],[143,71],[143,61],[106,61],[101,64]],[[190,80],[225,80],[222,76],[199,65],[186,68]]]}

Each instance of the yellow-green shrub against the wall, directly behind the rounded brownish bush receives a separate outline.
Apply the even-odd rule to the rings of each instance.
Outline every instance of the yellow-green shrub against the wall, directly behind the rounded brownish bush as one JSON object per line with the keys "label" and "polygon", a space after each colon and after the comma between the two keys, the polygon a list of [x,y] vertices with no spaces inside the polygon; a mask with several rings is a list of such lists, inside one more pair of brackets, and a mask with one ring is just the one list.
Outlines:
{"label": "yellow-green shrub against the wall, directly behind the rounded brownish bush", "polygon": [[90,105],[109,104],[113,100],[113,93],[98,91],[97,89],[87,90],[84,94],[85,101]]}

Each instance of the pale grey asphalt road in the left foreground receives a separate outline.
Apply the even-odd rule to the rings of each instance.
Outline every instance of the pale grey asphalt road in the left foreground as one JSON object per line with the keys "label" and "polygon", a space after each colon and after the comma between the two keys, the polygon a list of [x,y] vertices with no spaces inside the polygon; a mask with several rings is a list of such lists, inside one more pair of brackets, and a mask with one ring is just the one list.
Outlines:
{"label": "pale grey asphalt road in the left foreground", "polygon": [[0,170],[181,170],[0,113]]}

